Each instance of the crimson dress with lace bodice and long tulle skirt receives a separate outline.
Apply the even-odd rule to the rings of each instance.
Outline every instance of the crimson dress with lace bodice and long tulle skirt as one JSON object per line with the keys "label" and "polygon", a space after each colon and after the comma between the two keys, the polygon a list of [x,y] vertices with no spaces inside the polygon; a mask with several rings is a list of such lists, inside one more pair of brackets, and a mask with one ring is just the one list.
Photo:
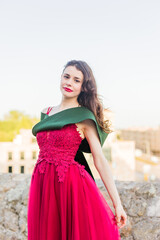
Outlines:
{"label": "crimson dress with lace bodice and long tulle skirt", "polygon": [[120,240],[115,216],[85,167],[74,160],[76,124],[41,131],[28,195],[28,240]]}

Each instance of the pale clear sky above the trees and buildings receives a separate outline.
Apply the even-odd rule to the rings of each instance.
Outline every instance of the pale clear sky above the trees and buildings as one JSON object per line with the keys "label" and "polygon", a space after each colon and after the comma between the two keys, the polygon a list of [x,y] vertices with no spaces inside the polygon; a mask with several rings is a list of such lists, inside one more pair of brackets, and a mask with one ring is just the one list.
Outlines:
{"label": "pale clear sky above the trees and buildings", "polygon": [[160,125],[160,1],[0,2],[0,118],[61,101],[67,61],[93,70],[115,126]]}

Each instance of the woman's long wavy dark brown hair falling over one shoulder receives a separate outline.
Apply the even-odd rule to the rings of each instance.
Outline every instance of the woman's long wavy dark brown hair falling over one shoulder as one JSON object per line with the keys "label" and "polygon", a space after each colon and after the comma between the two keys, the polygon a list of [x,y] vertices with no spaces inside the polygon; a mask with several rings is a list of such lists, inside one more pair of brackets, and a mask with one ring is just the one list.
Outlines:
{"label": "woman's long wavy dark brown hair falling over one shoulder", "polygon": [[106,133],[113,132],[109,128],[111,125],[110,120],[105,120],[104,112],[108,111],[109,109],[103,107],[102,99],[97,93],[97,84],[92,69],[84,61],[71,60],[64,66],[63,72],[68,66],[75,66],[77,70],[83,73],[84,79],[82,84],[82,91],[77,98],[78,103],[94,113],[97,123],[103,129],[103,131]]}

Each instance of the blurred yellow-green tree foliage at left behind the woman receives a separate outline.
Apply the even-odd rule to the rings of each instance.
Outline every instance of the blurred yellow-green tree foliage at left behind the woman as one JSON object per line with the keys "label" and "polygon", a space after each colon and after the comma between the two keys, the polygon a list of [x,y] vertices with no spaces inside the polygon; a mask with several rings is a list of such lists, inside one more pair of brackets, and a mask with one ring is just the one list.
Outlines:
{"label": "blurred yellow-green tree foliage at left behind the woman", "polygon": [[10,111],[0,120],[0,142],[13,141],[21,128],[31,129],[38,121],[38,118],[32,118],[22,112]]}

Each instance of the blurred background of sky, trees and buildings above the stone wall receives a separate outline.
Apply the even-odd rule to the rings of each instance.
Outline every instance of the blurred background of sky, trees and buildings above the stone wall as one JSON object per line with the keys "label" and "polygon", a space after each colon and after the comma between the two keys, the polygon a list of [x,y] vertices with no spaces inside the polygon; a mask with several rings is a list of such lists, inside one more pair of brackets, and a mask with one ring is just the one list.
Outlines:
{"label": "blurred background of sky, trees and buildings above the stone wall", "polygon": [[0,172],[32,173],[31,129],[60,103],[63,67],[76,59],[92,68],[109,108],[103,151],[114,179],[160,179],[159,10],[158,0],[1,1]]}

